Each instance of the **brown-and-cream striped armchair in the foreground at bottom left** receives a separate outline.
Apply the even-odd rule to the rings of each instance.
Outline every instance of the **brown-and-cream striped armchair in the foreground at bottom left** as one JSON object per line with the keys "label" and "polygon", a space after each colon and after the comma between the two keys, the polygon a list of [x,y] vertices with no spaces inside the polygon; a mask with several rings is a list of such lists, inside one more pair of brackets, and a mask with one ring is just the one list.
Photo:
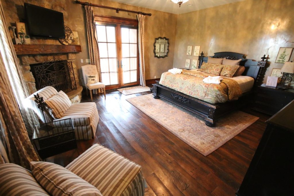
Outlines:
{"label": "brown-and-cream striped armchair in the foreground at bottom left", "polygon": [[30,165],[32,172],[0,164],[0,195],[144,195],[142,167],[99,144],[65,168],[49,162]]}

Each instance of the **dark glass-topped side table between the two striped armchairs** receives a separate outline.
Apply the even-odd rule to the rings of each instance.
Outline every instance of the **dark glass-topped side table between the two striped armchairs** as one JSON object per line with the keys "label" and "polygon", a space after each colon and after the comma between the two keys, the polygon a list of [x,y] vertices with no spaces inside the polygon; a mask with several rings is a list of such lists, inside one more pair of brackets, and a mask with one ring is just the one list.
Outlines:
{"label": "dark glass-topped side table between the two striped armchairs", "polygon": [[54,127],[46,130],[46,124],[36,125],[33,141],[42,159],[77,148],[74,125],[71,118],[47,123]]}

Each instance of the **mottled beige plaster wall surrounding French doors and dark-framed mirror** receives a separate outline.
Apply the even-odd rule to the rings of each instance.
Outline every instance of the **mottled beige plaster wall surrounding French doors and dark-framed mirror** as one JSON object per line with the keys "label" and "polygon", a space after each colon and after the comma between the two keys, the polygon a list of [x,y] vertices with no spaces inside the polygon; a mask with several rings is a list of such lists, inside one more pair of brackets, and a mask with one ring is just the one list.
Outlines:
{"label": "mottled beige plaster wall surrounding French doors and dark-framed mirror", "polygon": [[[84,12],[81,5],[77,5],[72,3],[72,1],[67,2],[67,9],[69,15],[69,26],[72,29],[78,31],[78,35],[80,38],[80,44],[82,47],[82,52],[76,54],[76,59],[79,62],[76,62],[78,67],[85,65],[85,58],[88,58],[88,51],[86,45],[86,30],[84,25]],[[134,11],[141,11],[145,13],[151,13],[152,16],[146,16],[145,21],[145,73],[146,80],[152,79],[154,76],[156,78],[160,78],[161,73],[167,71],[168,69],[173,67],[173,55],[174,55],[174,47],[175,47],[175,38],[176,38],[176,22],[177,15],[170,14],[162,11],[156,11],[151,9],[140,8],[136,6],[131,6],[127,4],[121,4],[113,1],[105,1],[105,0],[92,0],[89,1],[93,4],[99,4],[104,6],[118,7],[121,9],[128,9]],[[102,9],[93,7],[94,14],[103,15],[103,16],[116,16],[123,17],[128,19],[137,19],[137,14],[128,13],[120,11],[116,13],[115,10],[110,9]],[[167,37],[170,40],[170,51],[168,53],[168,57],[166,58],[155,58],[153,53],[153,43],[156,37]],[[84,63],[81,63],[79,59],[84,58]]]}

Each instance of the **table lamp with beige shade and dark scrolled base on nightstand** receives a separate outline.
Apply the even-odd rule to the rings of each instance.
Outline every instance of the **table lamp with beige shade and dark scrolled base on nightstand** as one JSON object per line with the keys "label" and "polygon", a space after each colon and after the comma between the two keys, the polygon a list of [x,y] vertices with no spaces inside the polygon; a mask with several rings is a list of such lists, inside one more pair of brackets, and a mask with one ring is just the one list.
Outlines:
{"label": "table lamp with beige shade and dark scrolled base on nightstand", "polygon": [[286,84],[292,81],[294,75],[294,62],[285,62],[281,69],[281,73],[283,74],[283,76],[279,78],[279,80],[281,81],[279,86],[284,89],[290,88],[290,86]]}

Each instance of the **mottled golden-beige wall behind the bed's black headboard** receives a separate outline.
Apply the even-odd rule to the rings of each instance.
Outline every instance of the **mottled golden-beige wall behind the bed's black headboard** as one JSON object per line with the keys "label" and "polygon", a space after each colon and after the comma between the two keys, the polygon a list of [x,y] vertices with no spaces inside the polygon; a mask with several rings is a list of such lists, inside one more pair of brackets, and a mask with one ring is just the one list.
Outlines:
{"label": "mottled golden-beige wall behind the bed's black headboard", "polygon": [[[280,47],[294,47],[293,0],[245,0],[178,15],[174,67],[183,67],[188,45],[201,46],[204,55],[232,51],[259,61],[265,54],[272,68]],[[271,29],[272,25],[277,26]],[[193,47],[194,50],[194,47]],[[294,55],[291,56],[293,60]],[[191,61],[192,62],[192,61]]]}

